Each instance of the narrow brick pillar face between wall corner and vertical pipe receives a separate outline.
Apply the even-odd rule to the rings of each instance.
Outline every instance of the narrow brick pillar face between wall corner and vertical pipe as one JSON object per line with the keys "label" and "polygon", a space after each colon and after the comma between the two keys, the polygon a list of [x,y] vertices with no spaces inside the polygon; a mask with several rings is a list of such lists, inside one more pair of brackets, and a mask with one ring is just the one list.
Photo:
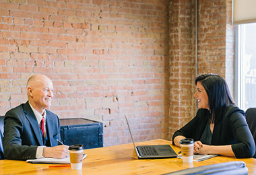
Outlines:
{"label": "narrow brick pillar face between wall corner and vertical pipe", "polygon": [[170,2],[170,119],[169,138],[191,120],[195,112],[195,4]]}

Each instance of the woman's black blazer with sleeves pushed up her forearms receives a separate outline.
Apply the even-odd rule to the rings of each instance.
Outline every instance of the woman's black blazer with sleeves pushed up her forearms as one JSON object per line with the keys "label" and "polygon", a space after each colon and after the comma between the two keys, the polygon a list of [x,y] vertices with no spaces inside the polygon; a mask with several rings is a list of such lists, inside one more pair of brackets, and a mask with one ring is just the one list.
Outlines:
{"label": "woman's black blazer with sleeves pushed up her forearms", "polygon": [[[201,141],[201,136],[209,120],[209,110],[199,109],[197,115],[187,125],[174,133],[172,141],[178,135],[192,138],[194,141]],[[172,143],[174,144],[174,142]],[[226,108],[222,118],[214,123],[211,145],[232,145],[232,151],[236,157],[253,157],[255,143],[243,110],[232,105]]]}

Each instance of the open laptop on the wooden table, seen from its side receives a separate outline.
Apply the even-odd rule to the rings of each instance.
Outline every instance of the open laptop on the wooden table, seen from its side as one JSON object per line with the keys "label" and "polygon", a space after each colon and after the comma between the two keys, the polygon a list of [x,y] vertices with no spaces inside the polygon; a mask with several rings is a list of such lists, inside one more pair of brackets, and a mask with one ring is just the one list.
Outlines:
{"label": "open laptop on the wooden table, seen from its side", "polygon": [[[125,120],[128,125],[128,129],[131,135],[131,140],[133,141],[133,135],[131,134],[131,129],[129,122],[125,116]],[[177,153],[174,152],[170,145],[141,145],[135,146],[133,141],[133,147],[136,151],[137,157],[139,159],[159,159],[159,158],[172,158],[177,157]]]}

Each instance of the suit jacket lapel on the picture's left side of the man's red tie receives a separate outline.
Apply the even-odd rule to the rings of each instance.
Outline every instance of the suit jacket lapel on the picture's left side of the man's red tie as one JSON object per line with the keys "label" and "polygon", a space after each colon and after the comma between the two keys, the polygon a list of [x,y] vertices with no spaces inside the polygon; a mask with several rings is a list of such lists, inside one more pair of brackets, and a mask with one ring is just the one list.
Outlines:
{"label": "suit jacket lapel on the picture's left side of the man's red tie", "polygon": [[24,113],[25,113],[26,118],[30,122],[32,131],[34,131],[34,135],[35,135],[36,139],[38,140],[39,145],[44,145],[43,141],[42,141],[41,131],[40,131],[38,122],[36,120],[36,116],[34,115],[34,112],[33,112],[32,108],[30,107],[30,104],[28,104],[28,102],[26,102],[26,104],[24,105]]}

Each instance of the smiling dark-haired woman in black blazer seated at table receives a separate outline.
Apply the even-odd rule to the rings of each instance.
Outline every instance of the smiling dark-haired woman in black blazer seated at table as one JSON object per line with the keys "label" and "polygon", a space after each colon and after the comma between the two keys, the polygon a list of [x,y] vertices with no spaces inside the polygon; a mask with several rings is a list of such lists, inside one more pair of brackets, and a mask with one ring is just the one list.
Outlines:
{"label": "smiling dark-haired woman in black blazer seated at table", "polygon": [[198,108],[195,118],[176,131],[174,145],[194,139],[194,153],[253,157],[255,143],[245,120],[245,112],[234,106],[228,85],[216,74],[195,78]]}

